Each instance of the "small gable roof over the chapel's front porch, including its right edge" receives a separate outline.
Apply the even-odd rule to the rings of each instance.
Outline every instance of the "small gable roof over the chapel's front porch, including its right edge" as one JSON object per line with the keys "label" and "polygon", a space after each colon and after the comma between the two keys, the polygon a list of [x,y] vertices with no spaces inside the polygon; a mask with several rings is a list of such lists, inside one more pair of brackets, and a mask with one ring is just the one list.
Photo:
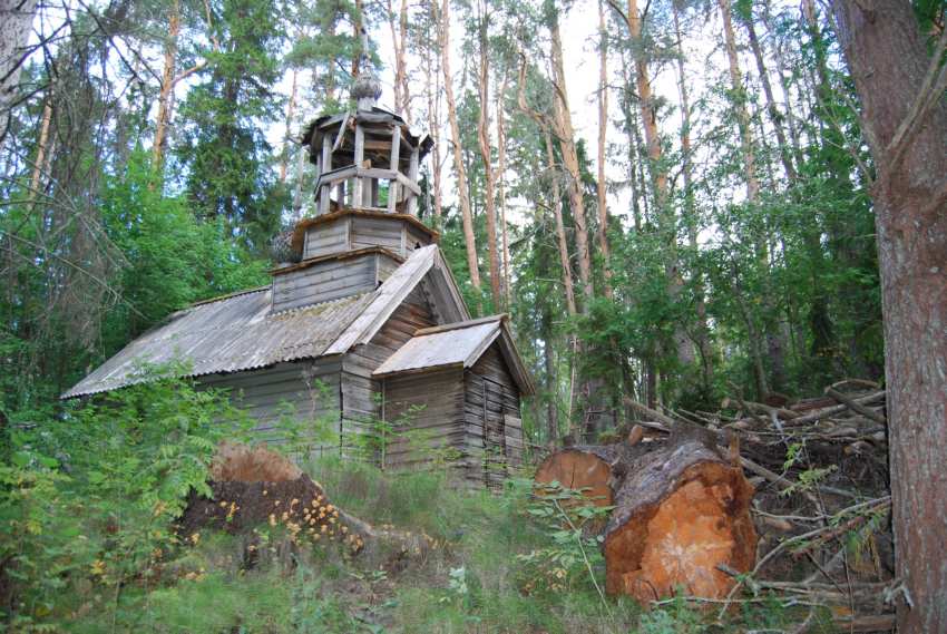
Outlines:
{"label": "small gable roof over the chapel's front porch, including its right edge", "polygon": [[421,329],[379,365],[372,377],[471,368],[495,342],[519,391],[531,394],[533,382],[516,350],[505,314]]}

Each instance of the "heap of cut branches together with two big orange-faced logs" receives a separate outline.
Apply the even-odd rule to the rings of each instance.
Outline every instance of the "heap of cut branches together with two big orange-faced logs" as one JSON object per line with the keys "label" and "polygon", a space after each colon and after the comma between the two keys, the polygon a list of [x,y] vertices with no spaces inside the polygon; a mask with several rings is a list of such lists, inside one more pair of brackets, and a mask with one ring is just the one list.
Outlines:
{"label": "heap of cut branches together with two big orange-faced logs", "polygon": [[833,607],[847,631],[889,622],[885,391],[847,380],[795,402],[733,392],[719,411],[627,401],[640,420],[625,440],[554,452],[536,480],[614,505],[602,528],[612,594],[683,592],[722,614],[769,591]]}

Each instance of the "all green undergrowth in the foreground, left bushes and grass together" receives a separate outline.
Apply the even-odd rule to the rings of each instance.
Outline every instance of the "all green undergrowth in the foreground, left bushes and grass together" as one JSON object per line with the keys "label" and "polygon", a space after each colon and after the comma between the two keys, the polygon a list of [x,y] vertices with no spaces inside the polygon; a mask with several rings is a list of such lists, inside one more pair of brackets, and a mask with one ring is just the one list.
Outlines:
{"label": "all green undergrowth in the foreground, left bushes and grass together", "polygon": [[219,421],[231,421],[230,438],[247,429],[223,394],[163,380],[40,416],[10,421],[14,443],[0,468],[10,632],[671,633],[804,616],[765,594],[722,622],[682,601],[642,611],[604,597],[604,562],[582,529],[594,513],[569,511],[567,529],[562,507],[534,496],[529,468],[485,491],[456,485],[447,462],[407,474],[303,462],[339,508],[424,535],[430,547],[353,555],[264,525],[250,559],[245,534],[185,535],[175,523],[192,490],[208,495]]}

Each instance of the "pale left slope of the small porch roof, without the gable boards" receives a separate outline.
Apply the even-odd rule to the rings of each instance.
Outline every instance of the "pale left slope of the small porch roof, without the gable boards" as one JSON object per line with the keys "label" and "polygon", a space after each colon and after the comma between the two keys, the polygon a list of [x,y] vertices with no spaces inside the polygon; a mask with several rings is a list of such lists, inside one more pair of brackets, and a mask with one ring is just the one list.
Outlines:
{"label": "pale left slope of the small porch roof, without the gable boards", "polygon": [[449,365],[469,368],[499,335],[500,321],[501,318],[498,315],[475,325],[458,324],[450,330],[445,330],[449,326],[441,326],[438,332],[418,334],[389,357],[373,375],[382,377]]}

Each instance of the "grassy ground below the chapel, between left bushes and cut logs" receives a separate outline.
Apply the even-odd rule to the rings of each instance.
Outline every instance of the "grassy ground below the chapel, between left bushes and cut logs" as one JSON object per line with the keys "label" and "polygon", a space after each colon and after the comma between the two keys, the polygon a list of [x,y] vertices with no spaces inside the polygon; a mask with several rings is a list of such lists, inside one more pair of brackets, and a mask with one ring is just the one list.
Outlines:
{"label": "grassy ground below the chapel, between left bushes and cut logs", "polygon": [[[115,596],[79,588],[76,632],[159,633],[687,633],[780,631],[792,618],[765,604],[710,626],[681,604],[642,613],[604,599],[595,548],[569,552],[537,521],[529,487],[467,491],[441,472],[390,475],[324,460],[306,466],[333,504],[373,525],[423,533],[433,546],[407,559],[369,549],[291,547],[269,534],[246,569],[246,538],[201,535],[149,587]],[[712,616],[712,615],[711,615]],[[797,616],[798,617],[798,616]]]}

